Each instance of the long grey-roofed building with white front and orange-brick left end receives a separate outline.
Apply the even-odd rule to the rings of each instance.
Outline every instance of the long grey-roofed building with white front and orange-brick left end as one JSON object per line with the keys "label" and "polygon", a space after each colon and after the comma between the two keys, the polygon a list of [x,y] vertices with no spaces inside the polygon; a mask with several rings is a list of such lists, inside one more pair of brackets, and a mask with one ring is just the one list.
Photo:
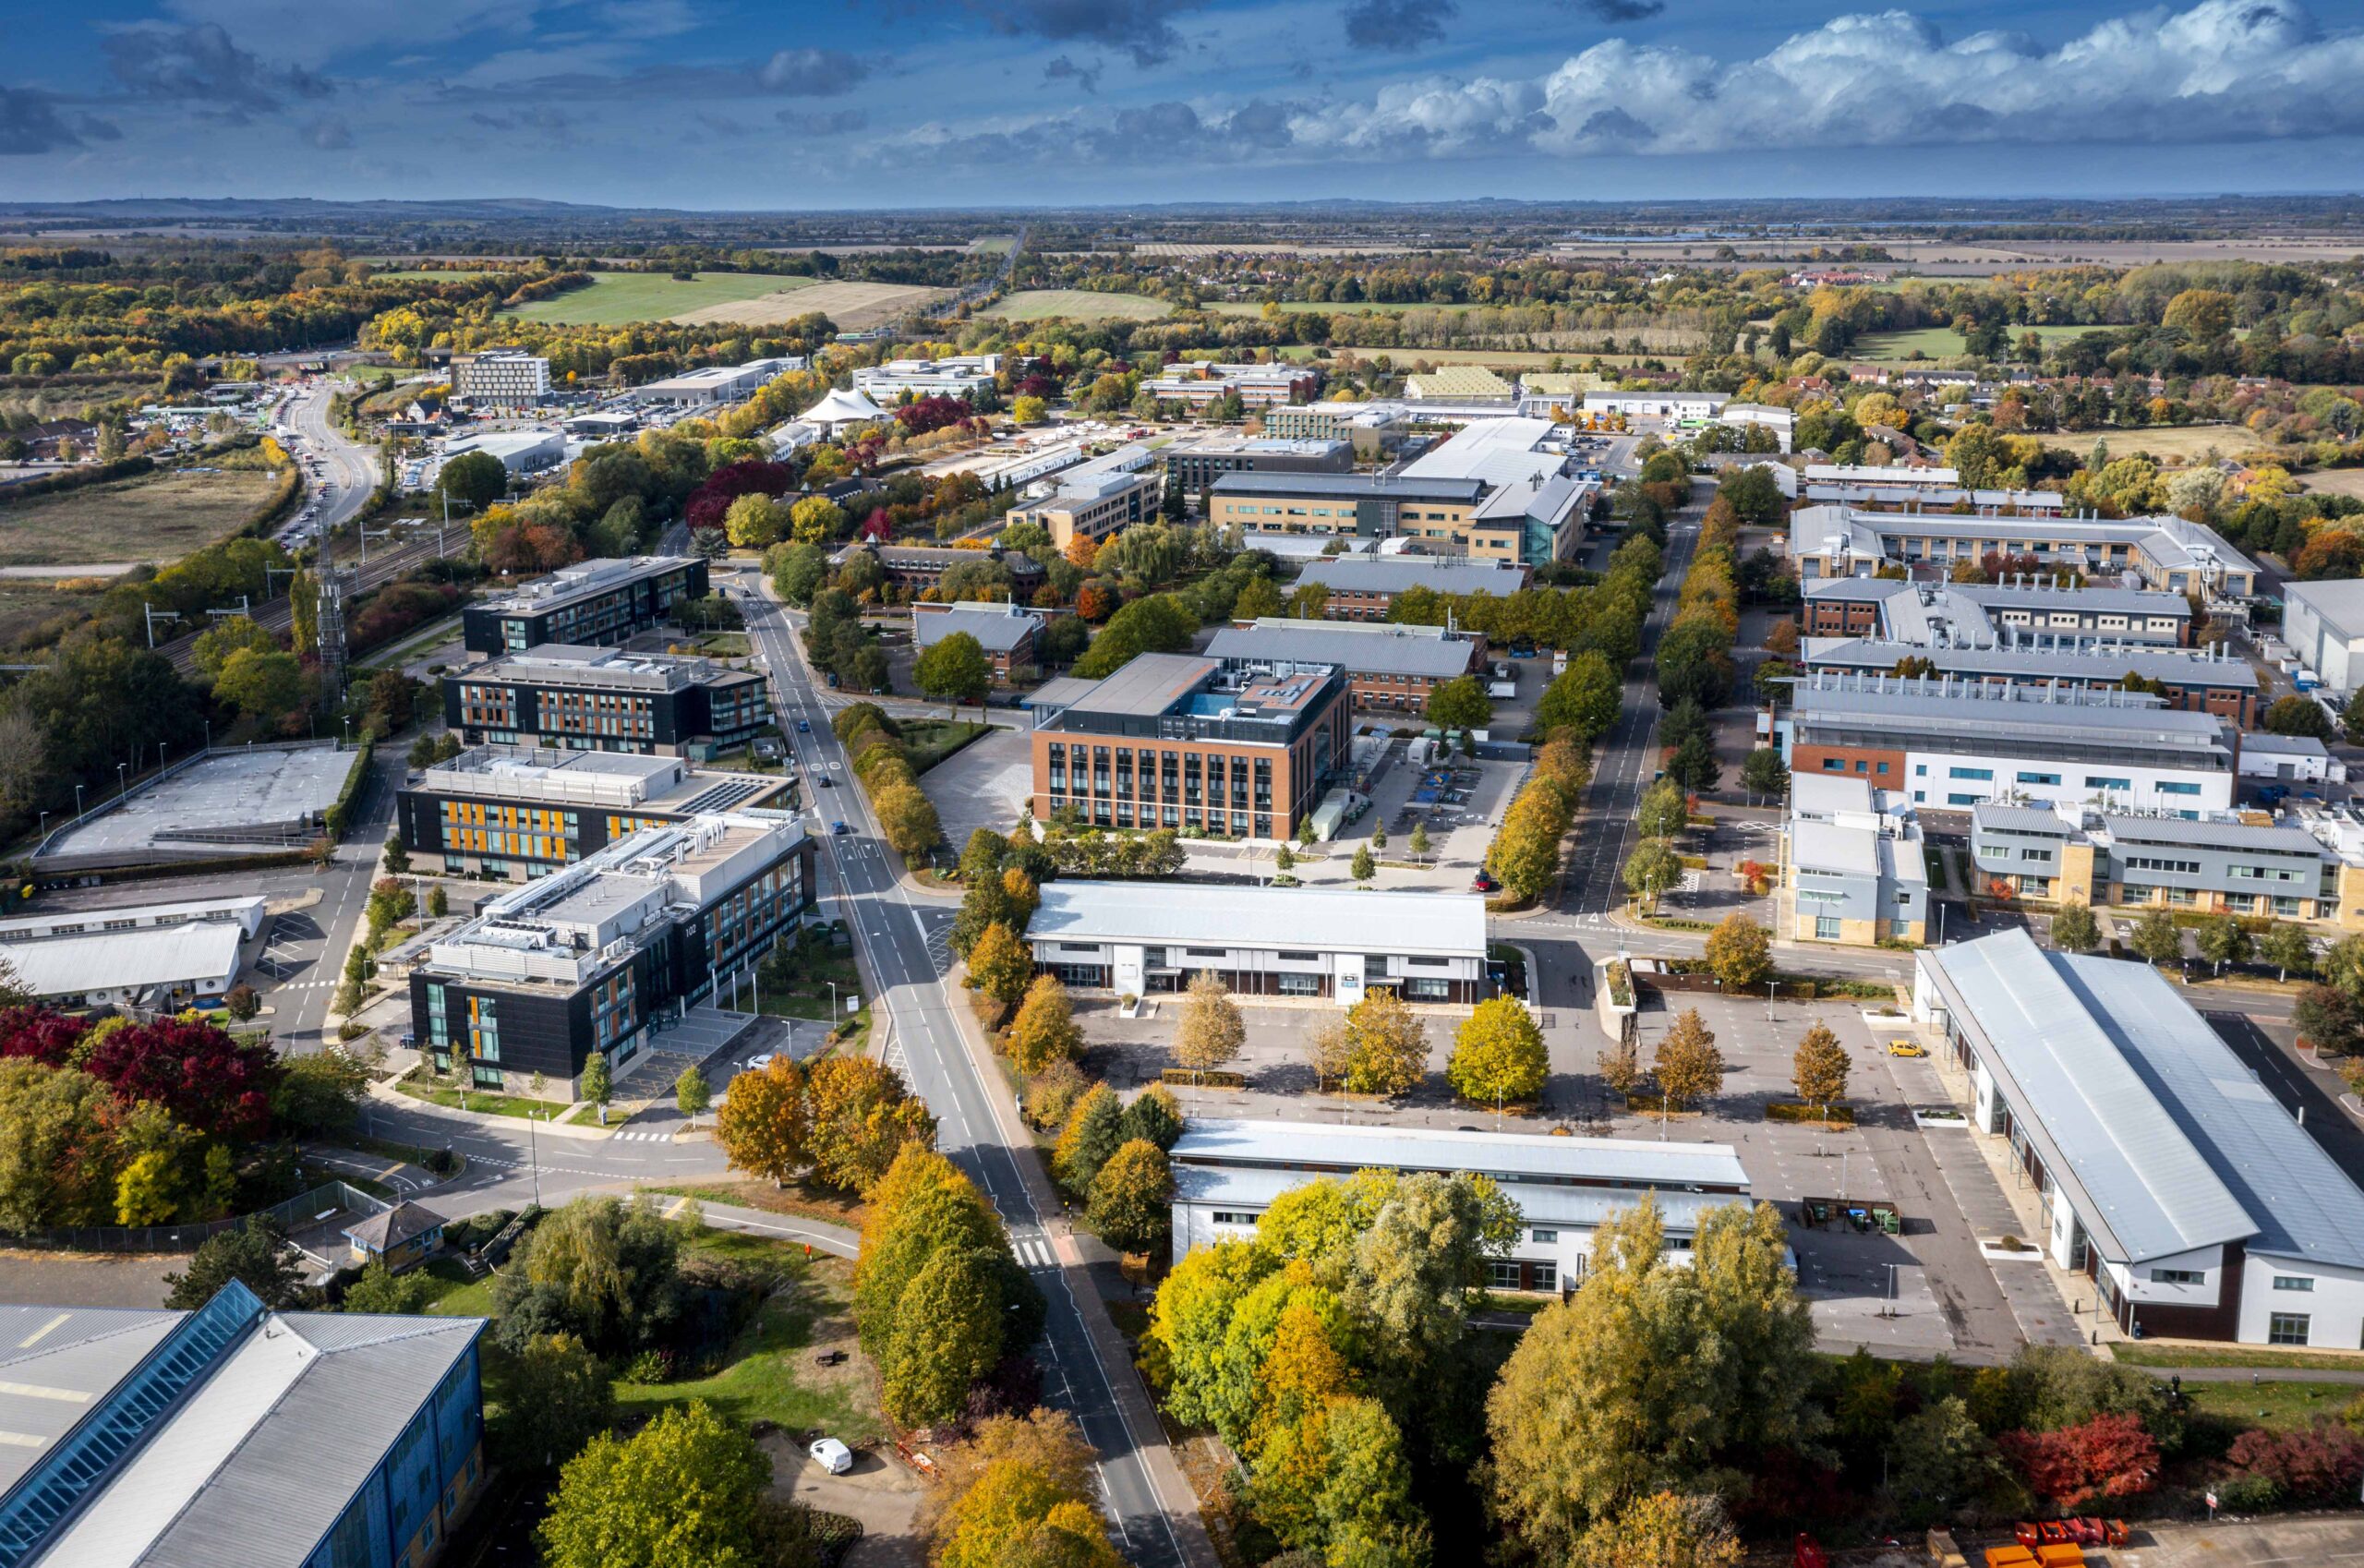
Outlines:
{"label": "long grey-roofed building with white front and orange-brick left end", "polygon": [[1922,811],[1990,799],[2225,811],[2239,731],[2132,691],[1804,676],[1773,721],[1792,773],[1851,773]]}

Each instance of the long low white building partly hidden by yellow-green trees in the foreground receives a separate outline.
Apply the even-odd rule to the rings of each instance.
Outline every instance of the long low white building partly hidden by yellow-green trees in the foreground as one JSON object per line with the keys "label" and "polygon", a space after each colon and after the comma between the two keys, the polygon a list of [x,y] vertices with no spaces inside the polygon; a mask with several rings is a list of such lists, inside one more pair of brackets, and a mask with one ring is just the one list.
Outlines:
{"label": "long low white building partly hidden by yellow-green trees in the foreground", "polygon": [[1690,1258],[1709,1211],[1749,1201],[1740,1154],[1723,1142],[1191,1116],[1173,1147],[1175,1263],[1194,1246],[1248,1239],[1284,1192],[1357,1171],[1492,1178],[1520,1218],[1511,1256],[1487,1258],[1487,1289],[1496,1291],[1577,1289],[1593,1232],[1645,1199],[1657,1204],[1676,1263]]}

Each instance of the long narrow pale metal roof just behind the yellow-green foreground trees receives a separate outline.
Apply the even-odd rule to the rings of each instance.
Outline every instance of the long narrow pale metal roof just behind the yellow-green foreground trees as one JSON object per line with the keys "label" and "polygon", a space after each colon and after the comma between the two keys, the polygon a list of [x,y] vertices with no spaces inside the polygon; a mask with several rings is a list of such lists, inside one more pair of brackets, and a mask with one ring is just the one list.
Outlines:
{"label": "long narrow pale metal roof just behind the yellow-green foreground trees", "polygon": [[[1059,887],[1052,882],[1050,887]],[[1043,892],[1047,894],[1050,887]],[[1608,1183],[1693,1192],[1742,1187],[1749,1175],[1723,1142],[1655,1138],[1544,1138],[1444,1128],[1331,1126],[1326,1121],[1191,1119],[1175,1140],[1182,1166],[1272,1171],[1475,1171],[1506,1183]]]}

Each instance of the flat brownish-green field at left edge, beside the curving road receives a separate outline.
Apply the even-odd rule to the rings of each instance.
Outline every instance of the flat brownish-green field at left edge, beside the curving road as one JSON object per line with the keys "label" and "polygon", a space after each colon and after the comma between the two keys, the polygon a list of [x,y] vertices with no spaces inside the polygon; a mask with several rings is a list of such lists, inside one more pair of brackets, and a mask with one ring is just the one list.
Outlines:
{"label": "flat brownish-green field at left edge, beside the curving road", "polygon": [[168,563],[234,534],[272,494],[260,468],[144,473],[0,506],[0,565]]}

